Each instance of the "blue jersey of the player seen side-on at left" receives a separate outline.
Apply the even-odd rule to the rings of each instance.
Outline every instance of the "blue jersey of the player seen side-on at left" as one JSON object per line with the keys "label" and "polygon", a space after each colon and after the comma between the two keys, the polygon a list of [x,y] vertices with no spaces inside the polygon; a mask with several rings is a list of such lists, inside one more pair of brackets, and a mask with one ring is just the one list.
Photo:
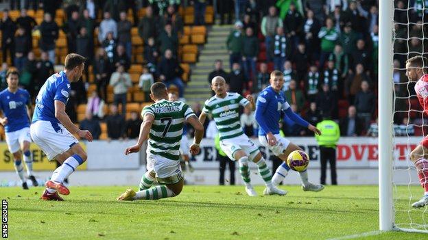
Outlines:
{"label": "blue jersey of the player seen side-on at left", "polygon": [[49,77],[38,92],[32,122],[49,121],[54,129],[59,129],[60,121],[55,117],[54,102],[58,100],[67,104],[70,87],[69,79],[62,71]]}

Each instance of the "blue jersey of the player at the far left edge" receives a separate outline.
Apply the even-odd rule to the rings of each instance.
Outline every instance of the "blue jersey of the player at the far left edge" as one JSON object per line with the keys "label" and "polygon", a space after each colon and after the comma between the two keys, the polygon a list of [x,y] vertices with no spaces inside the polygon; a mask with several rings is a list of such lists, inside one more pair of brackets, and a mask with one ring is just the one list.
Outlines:
{"label": "blue jersey of the player at the far left edge", "polygon": [[27,105],[31,104],[31,98],[27,90],[18,88],[13,93],[8,88],[0,92],[0,109],[8,118],[5,131],[10,133],[29,126]]}

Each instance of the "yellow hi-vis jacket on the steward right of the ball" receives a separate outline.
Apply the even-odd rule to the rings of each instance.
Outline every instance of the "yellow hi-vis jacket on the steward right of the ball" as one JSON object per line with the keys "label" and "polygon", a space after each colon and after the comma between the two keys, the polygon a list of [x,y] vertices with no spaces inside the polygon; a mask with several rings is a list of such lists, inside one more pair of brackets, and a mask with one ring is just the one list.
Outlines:
{"label": "yellow hi-vis jacket on the steward right of the ball", "polygon": [[340,138],[339,125],[333,120],[323,120],[322,122],[318,122],[316,127],[321,131],[321,135],[315,136],[318,145],[335,148]]}

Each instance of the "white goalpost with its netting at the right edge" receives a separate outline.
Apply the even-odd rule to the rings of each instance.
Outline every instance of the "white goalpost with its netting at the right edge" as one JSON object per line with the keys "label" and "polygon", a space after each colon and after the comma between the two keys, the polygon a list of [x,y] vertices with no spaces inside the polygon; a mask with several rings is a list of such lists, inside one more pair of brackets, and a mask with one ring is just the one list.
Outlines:
{"label": "white goalpost with its netting at the right edge", "polygon": [[[399,57],[401,62],[405,62],[405,59],[409,57],[414,55],[425,55],[426,52],[424,42],[428,40],[428,37],[425,37],[424,29],[425,25],[428,27],[428,23],[425,23],[424,14],[428,14],[428,1],[415,1],[415,5],[410,5],[410,0],[403,1],[403,3],[407,2],[406,7],[395,8],[394,5],[398,3],[398,1],[379,0],[378,144],[379,230],[381,231],[401,230],[405,232],[428,233],[428,206],[421,209],[414,209],[411,206],[412,202],[418,200],[418,198],[422,196],[423,188],[420,187],[416,170],[413,163],[409,161],[408,156],[409,152],[414,148],[415,143],[417,143],[415,139],[409,137],[409,126],[413,125],[422,130],[422,135],[427,135],[427,133],[423,131],[426,117],[420,109],[412,109],[414,105],[412,105],[411,100],[416,98],[416,95],[411,93],[413,88],[412,83],[409,83],[407,78],[405,79],[405,83],[394,82],[396,72],[399,72],[399,74],[400,72],[405,72],[405,66],[394,68],[393,63],[395,57]],[[413,2],[414,1],[412,1],[412,3]],[[427,3],[427,5],[425,5],[425,3]],[[394,11],[402,15],[407,14],[407,21],[394,22]],[[415,14],[416,12],[418,15]],[[414,16],[418,16],[418,19],[414,19]],[[414,36],[410,34],[411,30],[414,31],[414,29],[412,29],[414,27],[420,27],[420,32],[416,32],[418,32],[422,38],[420,38],[419,35]],[[407,31],[401,31],[401,35],[399,36],[394,30],[399,28]],[[406,33],[405,36],[403,36],[403,32]],[[417,51],[414,50],[414,46],[411,47],[409,44],[409,42],[413,40],[420,41],[419,45],[421,48],[417,48]],[[407,44],[407,52],[400,53],[397,49],[394,49],[394,46],[397,46],[394,45],[395,41],[400,41],[399,44]],[[403,96],[403,93],[397,96],[396,90],[401,86],[407,86],[407,93],[405,96]],[[404,101],[406,102],[405,104],[408,106],[406,111],[396,106],[400,101],[402,101],[402,103],[404,103]],[[407,135],[407,149],[404,155],[401,152],[399,153],[401,156],[398,156],[399,154],[397,154],[394,147],[396,144],[396,138],[394,137],[394,114],[405,114],[407,118],[416,116],[416,118],[419,119],[418,123],[414,122],[406,126],[405,135]],[[418,136],[416,138],[420,141],[423,136]],[[401,142],[403,142],[403,140]],[[401,160],[405,159],[407,167],[403,166],[403,164],[396,164],[399,161],[398,158],[401,158]],[[398,178],[401,180],[396,180],[395,176],[399,176]],[[406,178],[407,183],[403,182],[403,178]],[[406,185],[407,189],[405,189]]]}

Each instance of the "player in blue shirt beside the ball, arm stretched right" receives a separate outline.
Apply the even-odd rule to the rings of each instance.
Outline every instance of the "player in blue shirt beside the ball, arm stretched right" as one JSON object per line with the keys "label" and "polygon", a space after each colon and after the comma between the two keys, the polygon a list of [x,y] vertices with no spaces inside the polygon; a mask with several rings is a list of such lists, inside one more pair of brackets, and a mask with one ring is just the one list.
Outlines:
{"label": "player in blue shirt beside the ball, arm stretched right", "polygon": [[[285,94],[282,91],[284,85],[284,75],[282,72],[275,70],[270,74],[270,86],[265,88],[259,94],[256,104],[256,120],[259,123],[259,141],[269,150],[274,152],[274,155],[284,161],[274,174],[272,183],[278,185],[287,176],[289,166],[287,165],[287,157],[294,150],[302,150],[295,144],[289,142],[288,139],[279,135],[279,120],[281,114],[286,114],[291,120],[303,126],[316,134],[321,134],[320,130],[309,122],[303,120],[297,114],[294,114],[291,107],[285,101]],[[302,189],[304,191],[321,191],[323,185],[314,185],[309,183],[307,171],[299,172],[302,179]]]}

